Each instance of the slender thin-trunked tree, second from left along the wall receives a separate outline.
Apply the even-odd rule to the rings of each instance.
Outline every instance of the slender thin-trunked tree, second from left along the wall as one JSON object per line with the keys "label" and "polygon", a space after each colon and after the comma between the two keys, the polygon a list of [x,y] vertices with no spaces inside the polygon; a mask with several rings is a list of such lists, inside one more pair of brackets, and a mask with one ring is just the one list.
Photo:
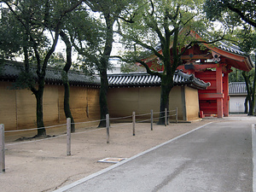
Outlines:
{"label": "slender thin-trunked tree, second from left along the wall", "polygon": [[[70,86],[68,82],[68,71],[73,67],[79,67],[79,69],[83,69],[84,73],[91,75],[93,72],[92,65],[90,62],[84,62],[84,58],[79,57],[76,62],[72,61],[72,53],[73,47],[79,50],[79,53],[83,55],[85,52],[84,49],[98,49],[99,46],[95,46],[95,42],[98,41],[97,31],[98,26],[95,25],[93,20],[90,20],[90,15],[86,6],[82,4],[79,6],[76,11],[73,11],[65,18],[63,29],[60,32],[61,39],[66,44],[66,64],[63,67],[63,71],[61,73],[62,81],[65,88],[64,94],[64,112],[66,118],[71,118],[71,131],[75,131],[73,115],[71,113],[70,105],[69,105],[69,96],[70,96]],[[83,47],[83,43],[87,45],[86,48]],[[97,44],[99,45],[99,44]],[[78,65],[77,65],[78,64]]]}

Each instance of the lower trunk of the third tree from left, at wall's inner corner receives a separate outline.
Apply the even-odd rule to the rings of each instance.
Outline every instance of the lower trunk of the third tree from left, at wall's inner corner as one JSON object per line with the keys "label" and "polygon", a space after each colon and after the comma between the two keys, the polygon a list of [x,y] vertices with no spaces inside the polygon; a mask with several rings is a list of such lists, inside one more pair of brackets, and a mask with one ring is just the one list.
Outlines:
{"label": "lower trunk of the third tree from left, at wall's inner corner", "polygon": [[101,122],[98,127],[106,126],[106,114],[108,114],[108,75],[107,69],[102,70],[101,74],[101,89],[100,89],[100,108]]}

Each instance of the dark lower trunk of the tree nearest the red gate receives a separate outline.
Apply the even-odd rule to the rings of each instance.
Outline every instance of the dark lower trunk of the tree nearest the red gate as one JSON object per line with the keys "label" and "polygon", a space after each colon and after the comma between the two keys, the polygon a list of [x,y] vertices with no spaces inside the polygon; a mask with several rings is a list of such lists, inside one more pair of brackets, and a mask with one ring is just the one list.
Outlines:
{"label": "dark lower trunk of the tree nearest the red gate", "polygon": [[[169,95],[173,87],[173,82],[170,85],[168,83],[168,77],[161,78],[161,91],[160,91],[160,119],[158,125],[165,125],[165,110],[167,109],[167,114],[169,111]],[[168,120],[168,118],[167,118]]]}

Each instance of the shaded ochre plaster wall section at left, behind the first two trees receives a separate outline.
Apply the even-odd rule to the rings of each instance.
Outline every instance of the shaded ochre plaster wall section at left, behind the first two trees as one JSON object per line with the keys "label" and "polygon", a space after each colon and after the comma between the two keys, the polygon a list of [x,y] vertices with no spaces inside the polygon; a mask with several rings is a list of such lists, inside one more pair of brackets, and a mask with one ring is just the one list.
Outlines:
{"label": "shaded ochre plaster wall section at left, behind the first two trees", "polygon": [[[35,96],[30,90],[10,90],[10,87],[9,82],[0,84],[0,124],[4,124],[6,131],[37,127]],[[98,97],[98,89],[70,87],[70,108],[75,122],[100,119]],[[63,100],[63,86],[45,85],[45,126],[66,123]]]}

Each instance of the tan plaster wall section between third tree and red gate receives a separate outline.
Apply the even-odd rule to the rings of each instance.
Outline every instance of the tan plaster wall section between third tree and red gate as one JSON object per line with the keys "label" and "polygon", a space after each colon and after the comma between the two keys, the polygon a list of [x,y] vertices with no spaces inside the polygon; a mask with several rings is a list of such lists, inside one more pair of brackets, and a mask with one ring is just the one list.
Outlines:
{"label": "tan plaster wall section between third tree and red gate", "polygon": [[[187,100],[185,102],[185,100]],[[110,117],[130,116],[160,111],[160,87],[113,88],[108,90],[108,108]],[[174,87],[169,97],[169,110],[177,108],[178,119],[198,119],[199,103],[197,90],[185,87]],[[174,111],[171,113],[175,113]],[[154,118],[159,114],[154,114]],[[138,117],[139,118],[139,117]],[[149,118],[143,116],[143,119]],[[175,119],[173,116],[172,119]]]}

